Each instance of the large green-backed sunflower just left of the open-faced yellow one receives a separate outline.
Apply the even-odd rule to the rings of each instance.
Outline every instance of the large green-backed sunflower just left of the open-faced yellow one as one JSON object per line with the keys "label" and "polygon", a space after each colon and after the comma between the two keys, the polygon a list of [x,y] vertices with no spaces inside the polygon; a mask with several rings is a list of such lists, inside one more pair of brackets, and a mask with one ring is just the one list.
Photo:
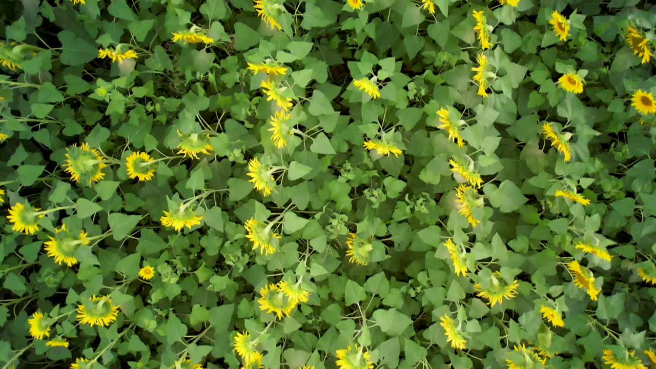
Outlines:
{"label": "large green-backed sunflower just left of the open-faced yellow one", "polygon": [[79,147],[77,144],[66,148],[66,160],[64,161],[64,171],[71,175],[71,179],[77,183],[91,185],[105,177],[102,168],[107,164],[103,162],[100,152],[95,148],[89,147],[88,143],[83,143]]}

